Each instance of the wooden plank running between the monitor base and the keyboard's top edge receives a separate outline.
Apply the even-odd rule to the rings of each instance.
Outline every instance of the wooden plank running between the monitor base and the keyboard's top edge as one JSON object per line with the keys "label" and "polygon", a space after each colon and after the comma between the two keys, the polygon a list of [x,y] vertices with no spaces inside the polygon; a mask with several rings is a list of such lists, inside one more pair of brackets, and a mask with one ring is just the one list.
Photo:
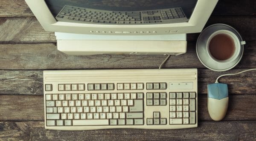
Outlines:
{"label": "wooden plank running between the monitor base and the keyboard's top edge", "polygon": [[[158,68],[164,55],[72,56],[57,50],[53,43],[0,44],[0,69],[112,69]],[[247,42],[237,68],[256,67],[256,42]],[[171,56],[163,68],[205,68],[198,60],[195,43],[186,54]]]}

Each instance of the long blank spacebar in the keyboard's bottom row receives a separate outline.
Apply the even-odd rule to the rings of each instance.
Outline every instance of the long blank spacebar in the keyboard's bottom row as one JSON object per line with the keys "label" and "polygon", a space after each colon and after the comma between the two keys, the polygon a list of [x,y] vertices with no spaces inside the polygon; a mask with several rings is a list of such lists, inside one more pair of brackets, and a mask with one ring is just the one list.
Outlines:
{"label": "long blank spacebar in the keyboard's bottom row", "polygon": [[73,126],[82,125],[109,125],[108,119],[86,119],[86,120],[73,120]]}

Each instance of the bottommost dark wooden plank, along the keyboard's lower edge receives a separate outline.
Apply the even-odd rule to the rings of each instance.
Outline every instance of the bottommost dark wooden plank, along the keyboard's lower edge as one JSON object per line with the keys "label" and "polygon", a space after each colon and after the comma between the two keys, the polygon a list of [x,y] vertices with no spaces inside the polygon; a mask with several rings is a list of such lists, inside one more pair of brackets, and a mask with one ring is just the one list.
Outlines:
{"label": "bottommost dark wooden plank, along the keyboard's lower edge", "polygon": [[253,141],[256,139],[256,121],[200,122],[197,128],[149,130],[103,129],[88,131],[58,131],[44,129],[44,122],[0,122],[2,140],[85,140],[85,141]]}

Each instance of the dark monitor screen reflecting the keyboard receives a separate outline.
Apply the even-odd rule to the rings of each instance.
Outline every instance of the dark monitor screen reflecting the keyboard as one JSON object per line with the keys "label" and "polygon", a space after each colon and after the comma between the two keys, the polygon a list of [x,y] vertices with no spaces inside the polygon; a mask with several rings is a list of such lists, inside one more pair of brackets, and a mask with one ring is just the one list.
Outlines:
{"label": "dark monitor screen reflecting the keyboard", "polygon": [[198,0],[45,0],[57,21],[93,24],[188,22]]}

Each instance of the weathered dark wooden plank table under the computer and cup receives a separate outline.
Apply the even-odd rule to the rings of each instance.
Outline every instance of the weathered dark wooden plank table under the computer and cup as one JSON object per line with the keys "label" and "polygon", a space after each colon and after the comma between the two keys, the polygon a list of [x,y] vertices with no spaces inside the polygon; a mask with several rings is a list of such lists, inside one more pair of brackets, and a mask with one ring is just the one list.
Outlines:
{"label": "weathered dark wooden plank table under the computer and cup", "polygon": [[192,129],[44,129],[43,70],[157,68],[163,55],[69,56],[57,50],[24,0],[0,1],[0,140],[256,140],[256,72],[221,78],[229,85],[223,121],[207,111],[207,84],[222,74],[256,68],[256,1],[220,0],[207,26],[225,23],[247,41],[244,56],[227,72],[206,69],[195,52],[197,34],[188,35],[188,51],[172,56],[163,68],[198,68],[198,127]]}

